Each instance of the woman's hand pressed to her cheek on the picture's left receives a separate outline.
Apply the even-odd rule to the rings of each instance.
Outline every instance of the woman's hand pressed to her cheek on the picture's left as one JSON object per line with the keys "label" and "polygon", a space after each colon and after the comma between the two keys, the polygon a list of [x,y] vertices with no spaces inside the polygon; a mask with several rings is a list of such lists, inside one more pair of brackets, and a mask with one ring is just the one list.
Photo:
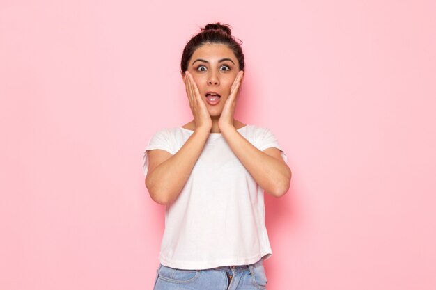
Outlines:
{"label": "woman's hand pressed to her cheek on the picture's left", "polygon": [[212,128],[212,119],[210,118],[208,107],[201,98],[194,78],[188,71],[185,72],[183,82],[185,83],[186,94],[189,99],[189,106],[191,107],[192,115],[194,116],[196,129],[205,128],[210,131]]}

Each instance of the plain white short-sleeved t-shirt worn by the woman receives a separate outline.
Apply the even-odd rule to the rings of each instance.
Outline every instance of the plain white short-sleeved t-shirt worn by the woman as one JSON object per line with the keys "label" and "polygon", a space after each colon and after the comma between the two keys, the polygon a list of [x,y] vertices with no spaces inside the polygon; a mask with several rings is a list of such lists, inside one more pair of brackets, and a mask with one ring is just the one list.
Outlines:
{"label": "plain white short-sleeved t-shirt worn by the woman", "polygon": [[[265,127],[238,129],[258,150],[285,152]],[[157,131],[143,154],[147,175],[148,150],[176,154],[194,133],[182,127]],[[178,198],[165,209],[165,230],[159,254],[164,266],[206,269],[252,264],[272,255],[265,227],[263,188],[233,153],[221,133],[210,133]]]}

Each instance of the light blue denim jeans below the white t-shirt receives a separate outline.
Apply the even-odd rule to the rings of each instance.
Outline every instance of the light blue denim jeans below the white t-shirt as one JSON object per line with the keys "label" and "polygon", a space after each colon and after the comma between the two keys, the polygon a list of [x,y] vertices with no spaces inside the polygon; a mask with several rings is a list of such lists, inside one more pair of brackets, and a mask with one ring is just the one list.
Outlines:
{"label": "light blue denim jeans below the white t-shirt", "polygon": [[182,270],[159,264],[154,290],[258,290],[266,289],[263,259],[244,266]]}

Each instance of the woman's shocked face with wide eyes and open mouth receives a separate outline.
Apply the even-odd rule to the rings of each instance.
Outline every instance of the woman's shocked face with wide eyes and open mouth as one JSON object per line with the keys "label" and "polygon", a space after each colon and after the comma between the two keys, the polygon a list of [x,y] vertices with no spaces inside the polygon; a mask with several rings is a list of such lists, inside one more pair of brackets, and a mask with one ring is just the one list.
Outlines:
{"label": "woman's shocked face with wide eyes and open mouth", "polygon": [[239,72],[239,63],[226,45],[205,44],[198,47],[188,63],[201,98],[211,117],[221,115]]}

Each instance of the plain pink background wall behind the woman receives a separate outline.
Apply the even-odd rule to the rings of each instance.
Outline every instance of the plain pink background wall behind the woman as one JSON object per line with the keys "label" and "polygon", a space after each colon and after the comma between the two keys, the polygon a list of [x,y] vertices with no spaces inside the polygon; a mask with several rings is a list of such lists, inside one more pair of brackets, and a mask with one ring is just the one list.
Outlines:
{"label": "plain pink background wall behind the woman", "polygon": [[268,289],[436,289],[436,2],[350,2],[2,0],[0,289],[152,289],[143,149],[191,120],[180,56],[214,21],[244,42],[236,117],[293,170]]}

